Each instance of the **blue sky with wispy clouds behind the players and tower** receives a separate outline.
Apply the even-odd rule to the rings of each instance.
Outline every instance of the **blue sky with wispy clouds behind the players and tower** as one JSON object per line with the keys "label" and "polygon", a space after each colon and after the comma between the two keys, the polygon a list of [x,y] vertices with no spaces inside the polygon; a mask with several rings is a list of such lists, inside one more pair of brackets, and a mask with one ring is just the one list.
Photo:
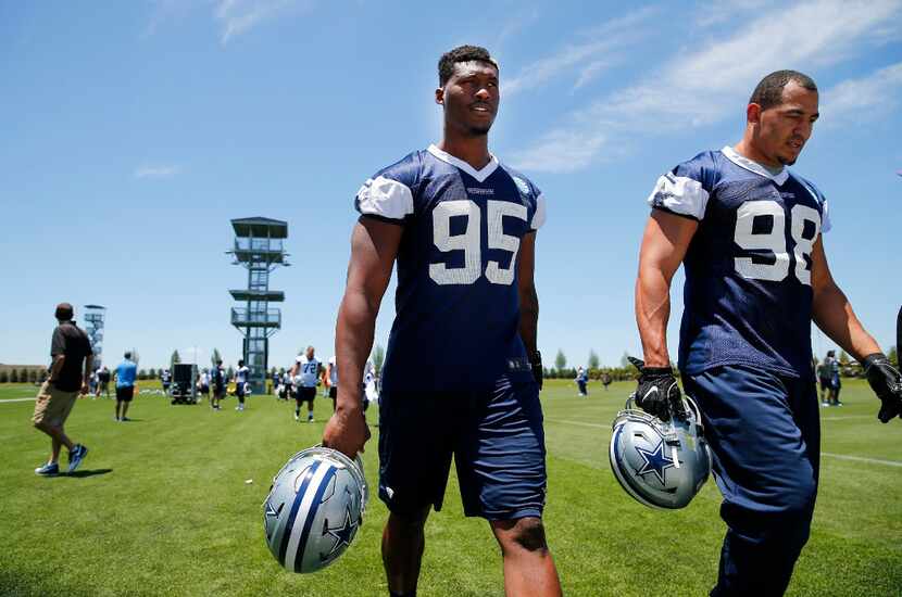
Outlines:
{"label": "blue sky with wispy clouds behind the players and tower", "polygon": [[[822,89],[793,169],[830,202],[835,277],[885,347],[902,302],[902,0],[0,2],[0,361],[48,360],[53,306],[108,307],[108,361],[215,346],[245,272],[229,218],[288,220],[293,265],[271,363],[333,353],[352,198],[437,141],[436,61],[501,63],[492,151],[548,199],[539,345],[571,364],[639,352],[639,239],[656,177],[739,140],[765,74]],[[669,340],[675,354],[678,278]],[[377,342],[393,316],[384,303]],[[815,347],[830,343],[814,335]]]}

